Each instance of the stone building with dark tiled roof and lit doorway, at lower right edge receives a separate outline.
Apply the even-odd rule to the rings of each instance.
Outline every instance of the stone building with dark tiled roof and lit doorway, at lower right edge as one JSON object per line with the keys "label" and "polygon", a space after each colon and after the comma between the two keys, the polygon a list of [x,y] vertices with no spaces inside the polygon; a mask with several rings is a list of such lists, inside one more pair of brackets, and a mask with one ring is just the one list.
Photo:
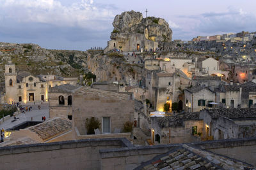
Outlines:
{"label": "stone building with dark tiled roof and lit doorway, at lower right edge", "polygon": [[204,120],[203,134],[214,140],[256,136],[256,110],[246,108],[200,111]]}

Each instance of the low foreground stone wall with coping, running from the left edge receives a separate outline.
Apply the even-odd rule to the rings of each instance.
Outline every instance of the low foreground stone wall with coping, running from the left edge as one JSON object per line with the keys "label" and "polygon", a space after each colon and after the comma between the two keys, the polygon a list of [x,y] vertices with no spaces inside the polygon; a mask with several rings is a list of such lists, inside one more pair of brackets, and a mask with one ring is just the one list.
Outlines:
{"label": "low foreground stone wall with coping, running from the left edge", "polygon": [[0,147],[1,169],[100,169],[99,150],[131,146],[112,138]]}

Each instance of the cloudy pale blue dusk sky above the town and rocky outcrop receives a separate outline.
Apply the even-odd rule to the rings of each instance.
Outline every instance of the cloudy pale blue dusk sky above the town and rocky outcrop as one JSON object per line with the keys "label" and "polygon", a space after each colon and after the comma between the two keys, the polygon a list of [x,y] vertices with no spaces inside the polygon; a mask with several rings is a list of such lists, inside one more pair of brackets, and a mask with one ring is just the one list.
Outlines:
{"label": "cloudy pale blue dusk sky above the town and rocky outcrop", "polygon": [[123,11],[164,18],[173,39],[256,31],[255,0],[0,0],[0,42],[87,50],[107,46]]}

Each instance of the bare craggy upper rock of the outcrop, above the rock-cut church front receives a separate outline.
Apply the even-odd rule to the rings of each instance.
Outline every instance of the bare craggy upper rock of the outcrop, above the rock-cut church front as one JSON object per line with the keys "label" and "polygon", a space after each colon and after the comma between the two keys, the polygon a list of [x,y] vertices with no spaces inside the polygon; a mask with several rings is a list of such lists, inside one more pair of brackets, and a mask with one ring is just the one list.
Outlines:
{"label": "bare craggy upper rock of the outcrop, above the rock-cut church front", "polygon": [[140,12],[125,11],[121,15],[116,15],[113,26],[111,39],[116,39],[122,34],[144,34],[146,39],[152,41],[172,41],[172,29],[163,18],[143,18]]}

